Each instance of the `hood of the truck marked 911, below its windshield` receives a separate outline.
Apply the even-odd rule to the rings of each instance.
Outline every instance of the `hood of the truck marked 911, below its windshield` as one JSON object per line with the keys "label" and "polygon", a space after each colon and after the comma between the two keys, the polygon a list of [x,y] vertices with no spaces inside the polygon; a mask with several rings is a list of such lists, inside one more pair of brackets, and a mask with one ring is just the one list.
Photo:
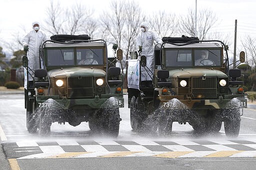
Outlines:
{"label": "hood of the truck marked 911, below its windshield", "polygon": [[190,77],[201,77],[201,76],[216,76],[216,77],[227,77],[227,75],[219,70],[206,69],[206,68],[186,68],[182,70],[170,70],[170,77],[190,78]]}

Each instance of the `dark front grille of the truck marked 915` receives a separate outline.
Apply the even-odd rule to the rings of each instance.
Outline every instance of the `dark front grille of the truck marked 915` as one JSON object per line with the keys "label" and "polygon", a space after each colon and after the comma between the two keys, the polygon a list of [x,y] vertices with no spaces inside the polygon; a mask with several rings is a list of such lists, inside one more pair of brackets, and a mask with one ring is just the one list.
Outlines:
{"label": "dark front grille of the truck marked 915", "polygon": [[93,97],[93,77],[68,77],[67,78],[67,97]]}

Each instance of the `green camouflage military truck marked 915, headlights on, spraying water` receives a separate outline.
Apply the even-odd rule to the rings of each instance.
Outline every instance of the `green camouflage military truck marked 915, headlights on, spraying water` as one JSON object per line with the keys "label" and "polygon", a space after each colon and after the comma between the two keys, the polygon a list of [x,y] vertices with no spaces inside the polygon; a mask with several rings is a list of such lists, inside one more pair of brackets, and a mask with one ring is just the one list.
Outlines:
{"label": "green camouflage military truck marked 915, headlights on, spraying water", "polygon": [[[114,57],[107,58],[106,42],[87,35],[53,35],[43,42],[43,68],[34,71],[24,93],[28,132],[38,128],[39,135],[49,135],[53,122],[88,122],[93,134],[118,136],[123,77],[115,67],[122,50],[116,49],[114,44]],[[28,76],[27,57],[22,60]]]}

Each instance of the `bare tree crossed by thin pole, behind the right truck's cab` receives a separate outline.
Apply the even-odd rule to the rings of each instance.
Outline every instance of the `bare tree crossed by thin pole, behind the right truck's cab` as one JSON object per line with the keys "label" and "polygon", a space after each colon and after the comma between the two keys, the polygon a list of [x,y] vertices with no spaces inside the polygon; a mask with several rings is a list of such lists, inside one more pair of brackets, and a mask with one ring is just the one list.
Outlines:
{"label": "bare tree crossed by thin pole, behind the right truck's cab", "polygon": [[179,32],[188,34],[188,36],[197,36],[200,40],[204,40],[210,28],[216,24],[217,17],[210,9],[201,9],[196,16],[195,30],[195,14],[189,8],[187,15],[180,16],[178,21]]}

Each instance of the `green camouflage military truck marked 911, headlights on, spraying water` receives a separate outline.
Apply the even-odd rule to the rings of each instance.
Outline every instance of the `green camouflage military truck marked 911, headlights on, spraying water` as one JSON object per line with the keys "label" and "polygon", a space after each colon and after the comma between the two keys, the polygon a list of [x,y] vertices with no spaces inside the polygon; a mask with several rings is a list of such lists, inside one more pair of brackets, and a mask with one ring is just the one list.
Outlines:
{"label": "green camouflage military truck marked 911, headlights on, spraying water", "polygon": [[[229,66],[244,62],[244,52],[229,64],[228,46],[221,41],[186,36],[162,40],[154,48],[153,88],[128,84],[131,128],[156,131],[158,127],[159,135],[168,135],[172,122],[178,122],[189,123],[195,132],[216,133],[224,122],[226,136],[237,137],[247,94],[240,70]],[[140,68],[145,61],[141,56]]]}

